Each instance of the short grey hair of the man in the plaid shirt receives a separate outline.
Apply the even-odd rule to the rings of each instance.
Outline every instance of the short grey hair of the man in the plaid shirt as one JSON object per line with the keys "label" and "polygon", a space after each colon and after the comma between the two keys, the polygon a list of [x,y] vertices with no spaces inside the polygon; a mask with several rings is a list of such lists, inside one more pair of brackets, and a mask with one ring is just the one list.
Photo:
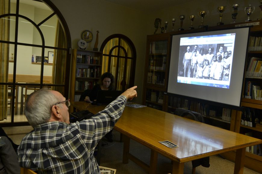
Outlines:
{"label": "short grey hair of the man in the plaid shirt", "polygon": [[51,108],[60,102],[47,88],[39,89],[27,98],[24,113],[32,127],[48,122],[51,117]]}

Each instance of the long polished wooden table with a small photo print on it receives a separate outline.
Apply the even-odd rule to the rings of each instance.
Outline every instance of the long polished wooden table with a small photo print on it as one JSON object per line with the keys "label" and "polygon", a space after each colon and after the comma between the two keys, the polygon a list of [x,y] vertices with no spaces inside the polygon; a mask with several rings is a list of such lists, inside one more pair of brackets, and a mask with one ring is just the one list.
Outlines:
{"label": "long polished wooden table with a small photo print on it", "polygon": [[[92,106],[85,102],[73,102],[80,110],[97,113],[105,106]],[[185,119],[149,107],[125,107],[115,130],[123,134],[123,163],[134,161],[148,173],[156,173],[158,153],[173,161],[173,174],[183,173],[184,163],[223,152],[236,150],[234,173],[243,173],[245,149],[261,144],[262,140],[248,137],[201,122]],[[150,165],[129,153],[130,138],[151,149]],[[169,140],[178,148],[170,149],[159,141]]]}

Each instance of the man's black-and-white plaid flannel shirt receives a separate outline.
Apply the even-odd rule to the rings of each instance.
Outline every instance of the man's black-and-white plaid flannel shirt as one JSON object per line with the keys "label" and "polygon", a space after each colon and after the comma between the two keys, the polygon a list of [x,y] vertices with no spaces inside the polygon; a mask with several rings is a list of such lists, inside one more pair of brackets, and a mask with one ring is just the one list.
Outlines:
{"label": "man's black-and-white plaid flannel shirt", "polygon": [[100,173],[93,155],[95,147],[113,129],[125,104],[126,97],[119,96],[91,119],[36,126],[18,147],[20,166],[37,173]]}

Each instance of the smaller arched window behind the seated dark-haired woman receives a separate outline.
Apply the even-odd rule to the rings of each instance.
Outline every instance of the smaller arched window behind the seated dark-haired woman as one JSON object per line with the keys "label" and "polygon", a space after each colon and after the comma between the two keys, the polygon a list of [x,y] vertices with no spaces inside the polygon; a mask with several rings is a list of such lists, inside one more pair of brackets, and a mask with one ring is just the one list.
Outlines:
{"label": "smaller arched window behind the seated dark-haired woman", "polygon": [[111,72],[115,77],[116,90],[125,91],[134,85],[136,48],[125,35],[115,34],[104,40],[102,73]]}

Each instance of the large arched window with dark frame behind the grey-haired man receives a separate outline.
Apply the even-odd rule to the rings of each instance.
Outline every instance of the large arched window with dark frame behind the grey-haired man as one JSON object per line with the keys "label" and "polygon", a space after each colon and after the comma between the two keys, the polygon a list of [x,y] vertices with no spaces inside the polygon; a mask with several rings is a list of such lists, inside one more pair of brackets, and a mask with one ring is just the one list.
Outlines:
{"label": "large arched window with dark frame behind the grey-haired man", "polygon": [[51,1],[0,0],[0,123],[27,125],[24,102],[43,86],[68,97],[70,47],[67,24]]}

